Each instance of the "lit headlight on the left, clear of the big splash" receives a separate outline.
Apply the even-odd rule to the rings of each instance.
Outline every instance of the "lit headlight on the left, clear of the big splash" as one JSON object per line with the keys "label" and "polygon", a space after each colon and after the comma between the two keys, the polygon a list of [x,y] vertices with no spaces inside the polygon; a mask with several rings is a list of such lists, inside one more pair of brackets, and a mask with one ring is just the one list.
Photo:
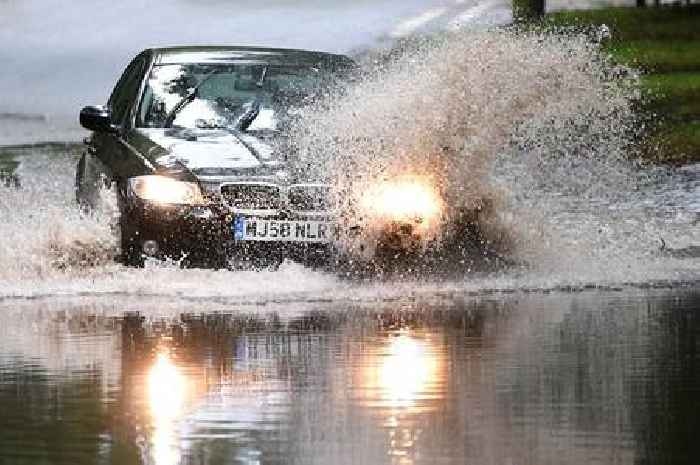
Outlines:
{"label": "lit headlight on the left, clear of the big splash", "polygon": [[167,176],[137,176],[129,179],[129,188],[138,198],[152,202],[179,205],[204,203],[204,197],[196,183],[178,181]]}

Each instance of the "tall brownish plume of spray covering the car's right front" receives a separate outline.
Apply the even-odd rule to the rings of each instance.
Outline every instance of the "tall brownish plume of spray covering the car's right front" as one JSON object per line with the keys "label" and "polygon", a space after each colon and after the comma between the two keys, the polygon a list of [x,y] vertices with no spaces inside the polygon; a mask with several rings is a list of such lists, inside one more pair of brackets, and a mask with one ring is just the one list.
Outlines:
{"label": "tall brownish plume of spray covering the car's right front", "polygon": [[[306,112],[298,163],[330,178],[340,210],[357,221],[374,185],[421,174],[445,199],[436,234],[448,242],[461,240],[463,211],[487,205],[478,220],[485,240],[531,269],[643,267],[638,259],[669,231],[628,208],[650,194],[650,173],[634,161],[638,80],[589,35],[417,40]],[[375,237],[343,242],[356,252]]]}

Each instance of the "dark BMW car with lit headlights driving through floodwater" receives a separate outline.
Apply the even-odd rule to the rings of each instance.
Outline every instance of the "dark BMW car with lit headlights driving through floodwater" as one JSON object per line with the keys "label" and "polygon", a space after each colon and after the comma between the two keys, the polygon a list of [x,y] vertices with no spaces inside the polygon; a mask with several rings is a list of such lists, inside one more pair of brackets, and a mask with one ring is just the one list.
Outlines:
{"label": "dark BMW car with lit headlights driving through floodwater", "polygon": [[[106,105],[80,112],[92,133],[76,168],[76,199],[89,211],[102,186],[115,186],[121,257],[131,266],[169,257],[275,268],[285,258],[322,264],[358,250],[410,253],[442,210],[421,179],[368,189],[358,201],[371,213],[362,224],[334,207],[347,202],[327,180],[290,170],[296,110],[356,73],[346,56],[305,50],[144,50]],[[358,246],[358,237],[374,243]]]}

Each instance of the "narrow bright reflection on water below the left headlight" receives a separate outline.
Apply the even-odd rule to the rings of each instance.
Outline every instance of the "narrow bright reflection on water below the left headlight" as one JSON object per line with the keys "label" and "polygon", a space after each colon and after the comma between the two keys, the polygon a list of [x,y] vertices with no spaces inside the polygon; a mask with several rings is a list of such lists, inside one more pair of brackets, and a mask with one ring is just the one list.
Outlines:
{"label": "narrow bright reflection on water below the left headlight", "polygon": [[148,372],[148,401],[153,421],[152,455],[157,465],[179,463],[175,422],[182,414],[187,391],[185,377],[167,352],[160,352]]}

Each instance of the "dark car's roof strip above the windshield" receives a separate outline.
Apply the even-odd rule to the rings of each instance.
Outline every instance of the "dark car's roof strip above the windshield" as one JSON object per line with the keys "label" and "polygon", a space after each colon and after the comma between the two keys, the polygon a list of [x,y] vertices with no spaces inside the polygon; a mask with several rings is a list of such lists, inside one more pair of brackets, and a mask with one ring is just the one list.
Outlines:
{"label": "dark car's roof strip above the windshield", "polygon": [[354,66],[354,62],[344,55],[290,48],[184,46],[151,48],[145,50],[145,53],[153,56],[154,64],[265,63]]}

